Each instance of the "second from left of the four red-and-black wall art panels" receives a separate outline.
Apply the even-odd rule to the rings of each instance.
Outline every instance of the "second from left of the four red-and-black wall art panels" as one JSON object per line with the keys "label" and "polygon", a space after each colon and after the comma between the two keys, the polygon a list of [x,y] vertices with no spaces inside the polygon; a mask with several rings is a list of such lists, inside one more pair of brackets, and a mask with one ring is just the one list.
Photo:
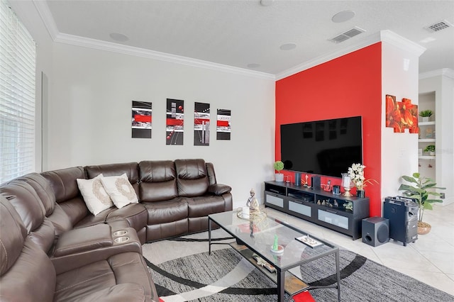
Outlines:
{"label": "second from left of the four red-and-black wall art panels", "polygon": [[183,145],[184,101],[167,99],[165,145]]}

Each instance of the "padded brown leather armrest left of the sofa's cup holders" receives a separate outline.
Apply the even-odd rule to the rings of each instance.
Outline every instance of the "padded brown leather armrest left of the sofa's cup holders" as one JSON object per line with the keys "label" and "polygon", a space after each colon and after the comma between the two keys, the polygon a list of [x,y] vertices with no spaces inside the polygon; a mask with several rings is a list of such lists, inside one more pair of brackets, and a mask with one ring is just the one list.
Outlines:
{"label": "padded brown leather armrest left of the sofa's cup holders", "polygon": [[110,225],[99,224],[87,228],[76,228],[60,235],[53,256],[62,257],[96,250],[101,247],[109,247],[113,244]]}

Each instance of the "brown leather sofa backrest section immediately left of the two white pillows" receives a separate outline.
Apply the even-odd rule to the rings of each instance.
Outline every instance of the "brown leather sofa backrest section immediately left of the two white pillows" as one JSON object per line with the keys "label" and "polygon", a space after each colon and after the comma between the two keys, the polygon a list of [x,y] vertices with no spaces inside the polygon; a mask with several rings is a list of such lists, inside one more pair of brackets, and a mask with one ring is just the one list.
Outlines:
{"label": "brown leather sofa backrest section immediately left of the two white pillows", "polygon": [[83,167],[70,167],[41,173],[48,179],[55,194],[55,201],[70,218],[72,226],[88,214],[87,206],[80,195],[76,179],[85,179]]}

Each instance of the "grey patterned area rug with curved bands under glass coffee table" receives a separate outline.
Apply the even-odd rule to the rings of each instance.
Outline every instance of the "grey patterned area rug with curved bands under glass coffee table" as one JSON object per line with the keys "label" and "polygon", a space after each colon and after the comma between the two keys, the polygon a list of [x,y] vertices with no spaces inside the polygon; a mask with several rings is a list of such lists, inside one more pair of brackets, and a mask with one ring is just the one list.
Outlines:
{"label": "grey patterned area rug with curved bands under glass coffee table", "polygon": [[[217,250],[208,255],[206,237],[206,233],[200,233],[143,246],[157,293],[163,301],[276,301],[276,284],[228,245],[216,245]],[[173,252],[180,248],[182,257],[153,262],[153,250],[170,247]],[[334,256],[324,257],[293,272],[311,286],[323,286],[336,284],[334,267]],[[310,293],[316,301],[337,301],[336,289],[313,289]],[[454,301],[454,296],[341,250],[341,300],[438,302]]]}

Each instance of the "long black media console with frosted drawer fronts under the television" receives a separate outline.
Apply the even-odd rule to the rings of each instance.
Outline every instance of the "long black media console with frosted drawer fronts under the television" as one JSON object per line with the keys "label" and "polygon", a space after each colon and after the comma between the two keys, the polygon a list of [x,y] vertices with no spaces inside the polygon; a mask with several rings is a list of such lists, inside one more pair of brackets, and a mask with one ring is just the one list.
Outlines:
{"label": "long black media console with frosted drawer fronts under the television", "polygon": [[[334,195],[287,182],[265,181],[265,206],[361,238],[361,223],[369,217],[369,198]],[[351,208],[351,209],[350,209]]]}

